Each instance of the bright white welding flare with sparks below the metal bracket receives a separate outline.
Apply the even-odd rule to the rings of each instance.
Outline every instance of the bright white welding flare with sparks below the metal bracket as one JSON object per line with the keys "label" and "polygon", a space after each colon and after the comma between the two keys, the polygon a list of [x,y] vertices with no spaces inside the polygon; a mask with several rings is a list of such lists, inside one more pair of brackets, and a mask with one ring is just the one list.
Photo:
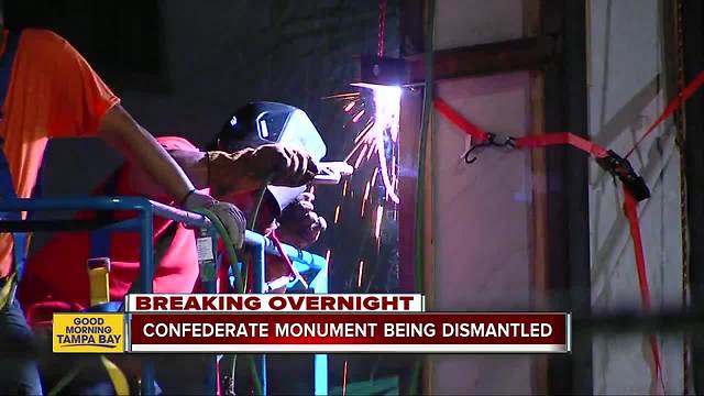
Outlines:
{"label": "bright white welding flare with sparks below the metal bracket", "polygon": [[[356,156],[354,168],[359,168],[364,161],[371,160],[376,154],[378,158],[378,172],[386,188],[386,196],[395,204],[399,199],[395,191],[397,174],[394,167],[397,164],[396,150],[392,150],[392,169],[389,172],[386,160],[386,145],[392,147],[398,141],[398,116],[400,112],[400,88],[375,86],[372,88],[375,111],[362,131],[354,138],[354,147],[345,161]],[[348,105],[349,106],[349,105]],[[358,122],[364,114],[364,110],[358,112],[352,122]]]}

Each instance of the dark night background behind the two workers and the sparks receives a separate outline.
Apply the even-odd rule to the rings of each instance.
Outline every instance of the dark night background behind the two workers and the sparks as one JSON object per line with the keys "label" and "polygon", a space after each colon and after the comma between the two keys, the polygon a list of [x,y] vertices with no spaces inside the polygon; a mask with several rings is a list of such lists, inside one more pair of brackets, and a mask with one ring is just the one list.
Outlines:
{"label": "dark night background behind the two workers and the sparks", "polygon": [[[377,51],[377,0],[6,0],[3,6],[9,29],[47,28],[67,38],[154,135],[185,136],[201,147],[234,109],[271,100],[305,110],[328,144],[327,158],[342,160],[358,130],[343,128],[349,116],[339,102],[322,98],[352,91],[354,56]],[[397,8],[388,1],[385,47],[392,56],[398,52]],[[52,141],[44,195],[87,195],[120,163],[97,140]],[[340,188],[321,187],[317,196],[318,211],[332,223]],[[349,279],[363,237],[350,232],[359,233],[361,226],[346,218],[311,249],[324,255],[327,246],[337,246],[331,292],[353,292]],[[336,233],[344,240],[338,237],[336,243]],[[37,241],[41,245],[41,235]],[[276,360],[271,391],[309,394],[311,359]],[[342,383],[344,361],[349,382],[385,371],[377,355],[331,355],[331,388]]]}

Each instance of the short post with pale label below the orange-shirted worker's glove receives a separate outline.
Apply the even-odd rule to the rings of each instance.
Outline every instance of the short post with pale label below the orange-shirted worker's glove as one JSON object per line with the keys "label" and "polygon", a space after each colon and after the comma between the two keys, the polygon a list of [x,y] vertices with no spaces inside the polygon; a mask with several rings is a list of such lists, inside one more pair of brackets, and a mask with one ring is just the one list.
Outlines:
{"label": "short post with pale label below the orange-shirted worker's glove", "polygon": [[[196,246],[198,250],[198,267],[200,268],[200,283],[204,290],[209,294],[216,293],[216,282],[218,278],[218,266],[216,261],[216,251],[218,249],[217,233],[212,226],[204,227],[198,230],[196,238]],[[216,394],[218,392],[218,355],[212,354],[206,360],[206,364],[211,364],[212,370],[207,371],[204,378],[206,394]]]}

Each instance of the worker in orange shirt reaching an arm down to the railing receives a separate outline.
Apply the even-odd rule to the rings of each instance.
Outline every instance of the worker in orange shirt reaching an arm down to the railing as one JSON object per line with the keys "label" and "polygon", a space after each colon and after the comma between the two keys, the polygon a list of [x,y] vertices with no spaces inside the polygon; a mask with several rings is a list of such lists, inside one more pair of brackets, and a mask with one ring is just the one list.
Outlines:
{"label": "worker in orange shirt reaching an arm down to the railing", "polygon": [[[241,243],[242,213],[197,190],[69,43],[45,30],[0,31],[0,198],[32,196],[50,139],[97,136],[131,157],[172,202],[213,210]],[[0,233],[0,394],[42,393],[32,333],[14,296],[26,241],[23,233]]]}

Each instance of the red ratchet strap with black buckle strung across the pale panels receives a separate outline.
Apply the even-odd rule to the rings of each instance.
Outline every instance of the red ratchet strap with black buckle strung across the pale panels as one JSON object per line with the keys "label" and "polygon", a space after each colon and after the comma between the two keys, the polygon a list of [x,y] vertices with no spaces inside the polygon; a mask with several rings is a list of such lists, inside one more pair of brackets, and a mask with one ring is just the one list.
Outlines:
{"label": "red ratchet strap with black buckle strung across the pale panels", "polygon": [[[700,74],[702,79],[698,86],[704,82],[704,73]],[[697,79],[700,78],[697,77]],[[680,98],[689,98],[692,96],[692,92],[689,92],[686,96],[682,95]],[[442,116],[444,116],[450,122],[460,128],[466,134],[472,136],[472,139],[476,140],[476,144],[482,144],[485,142],[490,142],[492,139],[492,134],[482,130],[477,125],[470,122],[466,118],[462,117],[454,109],[452,109],[444,100],[440,98],[436,98],[433,100],[435,107]],[[672,106],[669,106],[666,109],[666,112],[669,111],[664,117],[661,116],[656,121],[657,123],[662,122],[667,116],[672,113],[676,107],[681,105],[682,100],[678,101],[678,106],[671,109]],[[657,125],[656,125],[657,127]],[[650,133],[654,127],[648,129],[647,133]],[[645,136],[645,135],[644,135]],[[641,138],[642,140],[642,138]],[[638,208],[637,200],[646,199],[650,196],[650,191],[646,186],[645,182],[640,176],[638,176],[628,161],[619,157],[613,151],[607,151],[604,147],[590,142],[588,140],[572,134],[570,132],[560,132],[560,133],[548,133],[542,135],[530,135],[514,139],[513,143],[516,147],[520,148],[535,148],[535,147],[546,147],[551,145],[571,145],[576,147],[596,158],[602,167],[612,173],[624,183],[624,211],[626,213],[626,218],[628,219],[628,226],[630,228],[630,235],[634,241],[634,251],[636,254],[636,267],[638,272],[638,284],[640,286],[640,296],[642,300],[642,305],[647,311],[650,311],[650,288],[648,286],[648,273],[646,267],[646,258],[642,248],[642,239],[640,237],[640,226],[638,222]],[[637,196],[634,197],[634,194]],[[656,369],[656,381],[662,385],[662,391],[664,392],[664,382],[662,380],[662,370],[660,366],[660,346],[658,344],[658,339],[656,334],[650,334],[650,350],[652,353],[652,360]]]}

